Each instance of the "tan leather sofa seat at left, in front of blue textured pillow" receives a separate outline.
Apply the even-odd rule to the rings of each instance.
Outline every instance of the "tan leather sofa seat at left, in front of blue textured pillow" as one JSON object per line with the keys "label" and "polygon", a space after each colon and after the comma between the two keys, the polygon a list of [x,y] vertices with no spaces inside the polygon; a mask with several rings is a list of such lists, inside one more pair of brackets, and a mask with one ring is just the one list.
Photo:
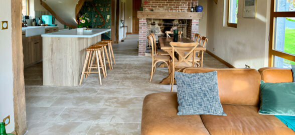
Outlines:
{"label": "tan leather sofa seat at left, in front of blue textured pillow", "polygon": [[160,92],[143,100],[141,135],[209,134],[200,115],[177,115],[177,93]]}

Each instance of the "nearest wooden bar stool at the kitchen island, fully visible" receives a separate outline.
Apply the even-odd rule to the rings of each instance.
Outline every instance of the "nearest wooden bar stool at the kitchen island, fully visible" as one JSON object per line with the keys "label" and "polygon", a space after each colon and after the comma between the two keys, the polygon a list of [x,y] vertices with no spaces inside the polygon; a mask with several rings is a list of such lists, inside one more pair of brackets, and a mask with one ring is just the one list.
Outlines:
{"label": "nearest wooden bar stool at the kitchen island, fully visible", "polygon": [[[103,63],[102,63],[102,58],[101,58],[101,52],[103,51],[102,46],[95,46],[92,45],[88,48],[86,48],[87,54],[86,54],[86,58],[85,58],[85,62],[84,62],[84,66],[83,66],[83,70],[82,70],[82,74],[81,74],[81,79],[80,79],[80,85],[82,84],[82,80],[84,77],[84,73],[88,74],[88,73],[98,73],[99,76],[99,83],[100,85],[101,83],[101,76],[100,76],[100,68],[102,69],[103,72],[103,76],[105,77],[105,69],[103,67]],[[97,67],[93,67],[92,66],[92,62],[94,60],[94,58],[92,57],[92,62],[91,65],[90,64],[90,59],[91,59],[91,53],[93,52],[93,57],[96,57],[96,62],[97,62]],[[88,66],[87,66],[87,61],[88,61]],[[99,66],[99,63],[102,67]],[[87,69],[86,69],[87,66]],[[98,71],[91,71],[91,68],[97,68]],[[85,71],[86,69],[86,71]]]}

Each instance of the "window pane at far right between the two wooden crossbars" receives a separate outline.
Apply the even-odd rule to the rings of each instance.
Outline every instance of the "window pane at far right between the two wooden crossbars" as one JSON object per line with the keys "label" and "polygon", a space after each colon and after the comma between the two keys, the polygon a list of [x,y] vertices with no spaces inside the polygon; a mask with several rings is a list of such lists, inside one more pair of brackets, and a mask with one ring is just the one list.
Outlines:
{"label": "window pane at far right between the two wooden crossbars", "polygon": [[274,49],[295,54],[295,17],[276,17]]}

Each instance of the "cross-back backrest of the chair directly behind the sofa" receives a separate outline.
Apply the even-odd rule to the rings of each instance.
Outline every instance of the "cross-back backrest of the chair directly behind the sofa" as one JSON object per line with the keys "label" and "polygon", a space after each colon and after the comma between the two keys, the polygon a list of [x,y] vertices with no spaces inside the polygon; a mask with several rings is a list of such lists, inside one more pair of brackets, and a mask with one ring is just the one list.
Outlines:
{"label": "cross-back backrest of the chair directly behind the sofa", "polygon": [[[173,68],[177,67],[182,62],[185,62],[189,66],[195,66],[195,62],[190,62],[191,59],[195,61],[195,53],[196,53],[196,47],[199,45],[198,42],[190,42],[190,43],[182,43],[182,42],[170,42],[170,45],[172,46],[172,65]],[[177,64],[174,64],[175,62],[175,56],[174,52],[177,52],[179,55],[179,60]],[[188,53],[185,53],[188,52]]]}

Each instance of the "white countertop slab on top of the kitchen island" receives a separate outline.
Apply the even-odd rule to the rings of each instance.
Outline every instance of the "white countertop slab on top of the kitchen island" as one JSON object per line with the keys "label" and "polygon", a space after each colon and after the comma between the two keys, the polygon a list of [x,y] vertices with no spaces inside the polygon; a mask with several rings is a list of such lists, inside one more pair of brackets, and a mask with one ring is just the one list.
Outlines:
{"label": "white countertop slab on top of the kitchen island", "polygon": [[42,34],[42,37],[94,37],[96,35],[103,34],[110,31],[111,29],[106,28],[92,28],[91,32],[78,32],[77,28],[63,30],[53,33]]}

